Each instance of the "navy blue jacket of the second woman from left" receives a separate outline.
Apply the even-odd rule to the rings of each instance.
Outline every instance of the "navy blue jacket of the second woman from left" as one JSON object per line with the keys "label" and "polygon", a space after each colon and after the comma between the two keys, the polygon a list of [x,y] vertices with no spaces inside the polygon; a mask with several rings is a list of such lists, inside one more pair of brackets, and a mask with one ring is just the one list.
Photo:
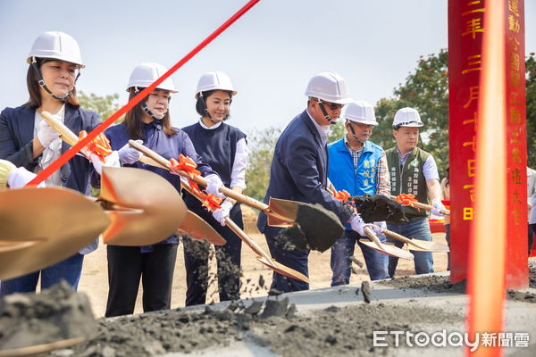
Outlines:
{"label": "navy blue jacket of the second woman from left", "polygon": [[[160,154],[165,159],[177,159],[179,158],[179,154],[189,156],[195,162],[197,162],[197,170],[201,171],[202,176],[205,177],[210,174],[215,174],[214,170],[212,170],[210,166],[203,162],[201,157],[196,153],[196,149],[194,149],[194,145],[192,144],[192,141],[190,140],[188,135],[181,129],[173,129],[177,131],[177,134],[168,137],[163,132],[160,121],[154,120],[149,124],[143,124],[143,145],[146,145],[149,149],[155,151],[156,154]],[[129,130],[127,129],[127,125],[125,123],[114,125],[113,127],[106,129],[105,136],[108,137],[108,139],[110,140],[112,150],[121,149],[121,147],[126,145],[130,140]],[[169,170],[164,170],[155,166],[146,165],[143,162],[134,162],[133,164],[125,164],[123,166],[153,171],[156,174],[162,176],[164,179],[167,179],[173,185],[173,187],[175,187],[180,192],[180,177],[177,175],[172,175]],[[98,185],[98,181],[98,174],[94,173],[92,185],[100,187],[100,185]],[[176,242],[177,238],[175,236],[172,236],[166,238],[158,244],[160,245]],[[141,251],[142,253],[151,252],[152,245],[143,246],[141,248]]]}

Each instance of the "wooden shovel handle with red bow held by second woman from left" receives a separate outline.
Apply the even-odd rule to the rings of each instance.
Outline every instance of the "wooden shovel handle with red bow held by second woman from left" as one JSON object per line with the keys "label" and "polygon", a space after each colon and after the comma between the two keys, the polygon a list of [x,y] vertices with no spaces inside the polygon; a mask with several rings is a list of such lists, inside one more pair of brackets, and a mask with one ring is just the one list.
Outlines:
{"label": "wooden shovel handle with red bow held by second woman from left", "polygon": [[[134,140],[129,140],[129,144],[130,144],[130,146],[132,146],[133,148],[135,148],[139,152],[147,155],[148,157],[150,157],[151,159],[153,159],[155,162],[157,162],[158,164],[162,165],[163,167],[168,167],[170,162],[167,161],[166,159],[164,159],[161,155],[156,154],[153,150],[149,149],[147,146],[138,144]],[[199,184],[199,185],[201,185],[203,187],[206,187],[208,185],[208,180],[202,178],[199,175],[191,175],[188,172],[183,171],[183,170],[174,170],[174,171],[177,172],[180,176],[182,176],[184,178],[191,179],[191,180],[193,180],[194,182],[196,182],[197,184]],[[255,200],[255,199],[253,199],[253,198],[251,198],[251,197],[249,197],[247,195],[239,194],[237,191],[233,191],[233,190],[231,190],[230,188],[227,188],[227,187],[220,187],[220,192],[223,195],[226,195],[226,196],[232,198],[235,201],[238,201],[240,203],[245,203],[248,206],[251,206],[251,207],[253,207],[253,208],[255,208],[255,209],[259,210],[259,211],[263,211],[265,213],[271,213],[271,211],[268,208],[267,204],[259,202],[259,201]]]}

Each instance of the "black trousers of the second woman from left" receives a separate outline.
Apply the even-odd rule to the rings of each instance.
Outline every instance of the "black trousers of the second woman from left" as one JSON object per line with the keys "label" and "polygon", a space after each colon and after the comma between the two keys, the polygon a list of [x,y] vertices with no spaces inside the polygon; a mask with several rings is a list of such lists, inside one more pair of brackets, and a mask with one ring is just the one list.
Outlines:
{"label": "black trousers of the second woman from left", "polygon": [[108,301],[105,317],[134,312],[139,279],[143,286],[143,311],[170,309],[177,244],[155,245],[151,253],[138,246],[107,246]]}

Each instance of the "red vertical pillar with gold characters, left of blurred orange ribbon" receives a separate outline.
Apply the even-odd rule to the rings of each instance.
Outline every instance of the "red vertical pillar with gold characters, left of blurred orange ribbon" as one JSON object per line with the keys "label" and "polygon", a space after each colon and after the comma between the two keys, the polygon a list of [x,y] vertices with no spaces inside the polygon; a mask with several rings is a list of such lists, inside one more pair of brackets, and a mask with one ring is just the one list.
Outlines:
{"label": "red vertical pillar with gold characters, left of blurred orange ribbon", "polygon": [[483,1],[448,1],[450,280],[467,277],[474,220],[476,129],[482,71]]}

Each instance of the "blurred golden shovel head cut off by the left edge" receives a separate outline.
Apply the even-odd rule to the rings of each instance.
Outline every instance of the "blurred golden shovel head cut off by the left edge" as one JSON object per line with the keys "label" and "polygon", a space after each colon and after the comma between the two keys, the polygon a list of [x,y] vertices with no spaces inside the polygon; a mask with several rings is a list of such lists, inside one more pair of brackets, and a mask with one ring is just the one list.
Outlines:
{"label": "blurred golden shovel head cut off by the left edge", "polygon": [[110,223],[84,195],[61,187],[0,192],[0,241],[24,244],[0,253],[0,279],[46,268],[89,245]]}

